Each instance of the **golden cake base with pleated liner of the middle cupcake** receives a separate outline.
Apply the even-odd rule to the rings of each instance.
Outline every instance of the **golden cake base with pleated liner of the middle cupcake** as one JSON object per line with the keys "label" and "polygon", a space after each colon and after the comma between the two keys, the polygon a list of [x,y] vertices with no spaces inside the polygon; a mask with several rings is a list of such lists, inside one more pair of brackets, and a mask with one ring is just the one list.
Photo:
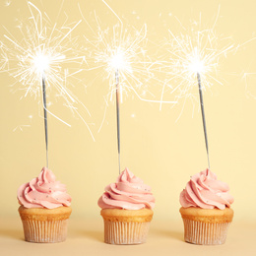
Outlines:
{"label": "golden cake base with pleated liner of the middle cupcake", "polygon": [[153,211],[104,209],[104,242],[110,244],[145,243],[153,218]]}

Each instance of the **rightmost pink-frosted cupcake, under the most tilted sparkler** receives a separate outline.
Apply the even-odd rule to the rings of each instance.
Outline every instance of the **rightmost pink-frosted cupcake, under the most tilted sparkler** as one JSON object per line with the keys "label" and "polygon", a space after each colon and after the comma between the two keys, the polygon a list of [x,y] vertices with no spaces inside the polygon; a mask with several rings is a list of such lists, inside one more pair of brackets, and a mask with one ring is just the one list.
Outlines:
{"label": "rightmost pink-frosted cupcake, under the most tilted sparkler", "polygon": [[228,185],[206,169],[193,175],[180,193],[179,210],[184,223],[184,239],[194,244],[223,244],[232,222],[233,203]]}

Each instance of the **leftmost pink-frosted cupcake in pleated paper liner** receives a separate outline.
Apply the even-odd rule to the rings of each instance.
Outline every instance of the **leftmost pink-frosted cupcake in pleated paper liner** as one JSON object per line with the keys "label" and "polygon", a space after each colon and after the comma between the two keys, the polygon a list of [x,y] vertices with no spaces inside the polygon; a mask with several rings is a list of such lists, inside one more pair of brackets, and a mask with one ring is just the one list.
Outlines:
{"label": "leftmost pink-frosted cupcake in pleated paper liner", "polygon": [[45,243],[66,239],[71,197],[50,169],[43,167],[38,177],[21,185],[18,201],[26,241]]}

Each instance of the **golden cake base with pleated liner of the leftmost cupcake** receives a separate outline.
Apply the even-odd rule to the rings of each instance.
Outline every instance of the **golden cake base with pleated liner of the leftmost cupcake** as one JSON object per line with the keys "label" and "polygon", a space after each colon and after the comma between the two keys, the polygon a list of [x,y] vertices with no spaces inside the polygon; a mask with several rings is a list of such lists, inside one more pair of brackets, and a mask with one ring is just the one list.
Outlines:
{"label": "golden cake base with pleated liner of the leftmost cupcake", "polygon": [[38,243],[62,242],[67,237],[70,207],[56,209],[19,208],[25,240]]}

